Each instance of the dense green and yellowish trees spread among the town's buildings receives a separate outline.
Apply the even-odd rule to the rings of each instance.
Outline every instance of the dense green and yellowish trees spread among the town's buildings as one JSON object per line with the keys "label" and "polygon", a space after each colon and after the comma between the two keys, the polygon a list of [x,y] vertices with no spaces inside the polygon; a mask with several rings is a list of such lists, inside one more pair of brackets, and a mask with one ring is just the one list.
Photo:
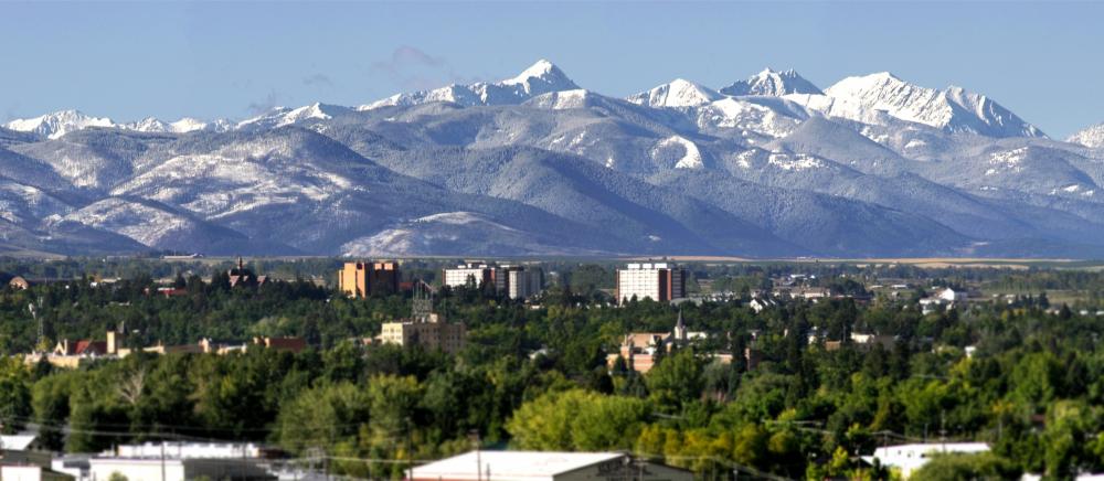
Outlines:
{"label": "dense green and yellowish trees spread among the town's buildings", "polygon": [[[336,266],[316,263],[318,272]],[[23,266],[31,265],[8,268],[30,275]],[[469,332],[466,349],[447,355],[361,342],[382,322],[407,316],[410,295],[347,299],[295,266],[279,267],[287,280],[232,289],[217,268],[209,268],[212,279],[198,268],[120,269],[123,278],[110,284],[72,268],[42,276],[71,280],[0,292],[0,352],[11,355],[0,359],[2,429],[33,427],[50,448],[73,452],[157,439],[256,440],[293,457],[321,453],[332,472],[354,477],[400,477],[410,462],[478,443],[624,450],[705,479],[733,472],[888,479],[892,472],[859,456],[885,443],[940,439],[986,441],[992,452],[937,459],[926,479],[1104,471],[1104,317],[1069,307],[1055,312],[1039,296],[1078,289],[1087,306],[1104,286],[1100,274],[692,268],[696,282],[743,292],[798,270],[835,284],[893,277],[1037,291],[926,316],[912,297],[885,296],[793,301],[755,313],[745,296],[678,308],[650,300],[613,307],[612,265],[550,263],[554,281],[531,304],[486,288],[440,289],[435,309]],[[417,267],[418,277],[432,278],[436,268]],[[155,278],[187,293],[150,295]],[[691,331],[709,333],[707,341],[665,354],[647,374],[623,362],[607,367],[606,354],[625,333],[668,331],[679,309]],[[36,343],[103,339],[120,325],[135,345],[287,335],[310,348],[136,354],[78,370],[25,365],[17,356]],[[857,345],[847,342],[850,332],[893,335],[895,343]],[[828,349],[826,339],[845,342]],[[750,366],[745,350],[762,361]],[[734,353],[734,361],[715,362],[715,352]]]}

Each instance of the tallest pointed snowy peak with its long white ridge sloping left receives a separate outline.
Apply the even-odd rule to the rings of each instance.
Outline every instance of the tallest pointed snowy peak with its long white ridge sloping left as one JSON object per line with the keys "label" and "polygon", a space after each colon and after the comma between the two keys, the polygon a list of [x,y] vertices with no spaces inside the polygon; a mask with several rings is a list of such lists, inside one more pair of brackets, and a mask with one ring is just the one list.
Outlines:
{"label": "tallest pointed snowy peak with its long white ridge sloping left", "polygon": [[391,97],[358,107],[371,110],[388,106],[422,105],[432,101],[450,101],[463,106],[521,104],[534,96],[550,92],[574,90],[575,85],[560,67],[540,60],[514,77],[488,84],[448,85],[432,90],[395,94]]}

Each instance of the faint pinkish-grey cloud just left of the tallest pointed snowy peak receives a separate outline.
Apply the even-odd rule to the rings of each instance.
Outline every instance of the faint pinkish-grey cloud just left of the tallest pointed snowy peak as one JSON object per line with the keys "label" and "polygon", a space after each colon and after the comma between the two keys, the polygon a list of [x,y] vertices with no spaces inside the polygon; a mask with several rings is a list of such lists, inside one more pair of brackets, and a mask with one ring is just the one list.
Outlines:
{"label": "faint pinkish-grey cloud just left of the tallest pointed snowy peak", "polygon": [[402,45],[391,57],[373,62],[369,73],[382,76],[406,89],[436,88],[444,84],[470,84],[477,77],[460,75],[445,58],[415,46]]}

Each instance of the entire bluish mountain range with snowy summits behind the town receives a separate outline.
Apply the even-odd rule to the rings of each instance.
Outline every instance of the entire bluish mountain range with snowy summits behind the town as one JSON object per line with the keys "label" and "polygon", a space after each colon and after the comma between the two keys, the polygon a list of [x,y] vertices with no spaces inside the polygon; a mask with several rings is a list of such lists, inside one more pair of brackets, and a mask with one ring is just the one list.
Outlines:
{"label": "entire bluish mountain range with snowy summits behind the town", "polygon": [[627,98],[497,83],[230,121],[0,128],[0,253],[1104,255],[1104,127],[765,70]]}

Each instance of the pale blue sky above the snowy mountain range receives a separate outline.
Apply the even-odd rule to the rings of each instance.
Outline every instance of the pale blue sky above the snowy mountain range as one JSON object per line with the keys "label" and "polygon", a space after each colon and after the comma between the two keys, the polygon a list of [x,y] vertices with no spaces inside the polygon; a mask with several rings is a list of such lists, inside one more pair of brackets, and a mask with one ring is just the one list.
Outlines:
{"label": "pale blue sky above the snowy mountain range", "polygon": [[764,67],[821,88],[889,71],[986,94],[1064,138],[1104,122],[1102,19],[1091,1],[0,0],[0,119],[241,119],[497,81],[548,58],[613,96],[677,77],[720,88]]}

